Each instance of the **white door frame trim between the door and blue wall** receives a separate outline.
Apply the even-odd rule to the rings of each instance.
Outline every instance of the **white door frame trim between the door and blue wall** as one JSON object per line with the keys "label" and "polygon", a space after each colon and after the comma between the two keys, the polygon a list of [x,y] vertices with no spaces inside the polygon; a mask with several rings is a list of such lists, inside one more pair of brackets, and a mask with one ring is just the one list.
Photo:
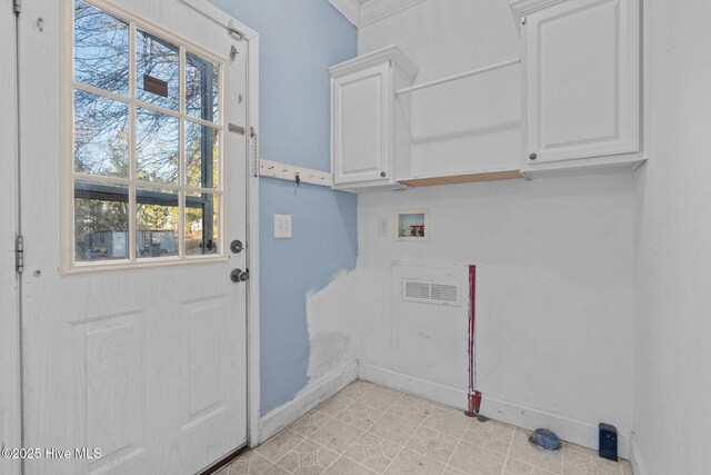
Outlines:
{"label": "white door frame trim between the door and blue wall", "polygon": [[[247,444],[259,445],[261,434],[260,405],[260,335],[259,335],[259,33],[208,0],[182,0],[209,17],[227,31],[241,34],[248,42],[247,58]],[[253,135],[252,135],[253,130]]]}

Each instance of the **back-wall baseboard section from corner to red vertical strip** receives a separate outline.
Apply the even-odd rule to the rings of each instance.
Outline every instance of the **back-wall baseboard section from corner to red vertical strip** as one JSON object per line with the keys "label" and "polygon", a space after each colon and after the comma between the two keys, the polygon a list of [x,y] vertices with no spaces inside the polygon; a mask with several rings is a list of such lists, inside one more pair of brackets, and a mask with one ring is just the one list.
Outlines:
{"label": "back-wall baseboard section from corner to red vertical strip", "polygon": [[404,390],[425,399],[447,406],[467,409],[467,390],[444,386],[439,383],[432,383],[414,376],[393,372],[392,369],[383,369],[377,366],[359,364],[358,377],[371,383],[391,387],[393,389]]}

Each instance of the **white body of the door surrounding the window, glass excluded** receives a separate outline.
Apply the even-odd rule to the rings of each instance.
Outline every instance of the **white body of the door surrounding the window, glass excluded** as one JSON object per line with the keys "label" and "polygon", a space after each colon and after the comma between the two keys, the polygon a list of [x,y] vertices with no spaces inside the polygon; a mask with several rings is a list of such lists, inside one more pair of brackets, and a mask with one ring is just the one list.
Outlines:
{"label": "white body of the door surrounding the window, glass excluded", "polygon": [[[246,125],[247,100],[237,99],[247,98],[246,41],[180,1],[99,6],[113,4],[221,58],[224,127]],[[246,253],[227,246],[247,238],[246,139],[223,136],[224,259],[62,275],[60,97],[71,83],[61,81],[60,44],[72,6],[23,2],[21,16],[26,446],[72,451],[28,461],[26,473],[197,473],[247,441],[246,285],[229,278]],[[79,459],[74,447],[101,457]]]}

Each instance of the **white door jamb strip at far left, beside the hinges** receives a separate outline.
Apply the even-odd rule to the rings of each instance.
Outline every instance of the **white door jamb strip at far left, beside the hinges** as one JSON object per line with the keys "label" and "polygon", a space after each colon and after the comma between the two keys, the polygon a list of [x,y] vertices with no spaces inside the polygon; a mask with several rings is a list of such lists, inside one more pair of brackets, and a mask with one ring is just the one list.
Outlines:
{"label": "white door jamb strip at far left, beside the hinges", "polygon": [[[17,131],[14,95],[14,14],[12,1],[0,0],[0,446],[20,446],[18,279],[14,238],[18,231]],[[0,457],[0,475],[18,474],[17,459]]]}

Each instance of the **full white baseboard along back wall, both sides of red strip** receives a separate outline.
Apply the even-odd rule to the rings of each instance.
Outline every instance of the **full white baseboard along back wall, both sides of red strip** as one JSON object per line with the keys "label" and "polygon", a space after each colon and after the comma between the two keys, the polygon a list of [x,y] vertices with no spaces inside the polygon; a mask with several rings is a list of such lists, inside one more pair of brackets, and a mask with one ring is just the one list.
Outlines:
{"label": "full white baseboard along back wall, both sides of red strip", "polygon": [[[359,364],[358,377],[371,383],[392,387],[424,397],[435,403],[445,404],[459,409],[467,409],[467,392],[438,383],[428,382],[391,369],[383,369],[371,365]],[[494,420],[511,424],[533,431],[539,427],[550,428],[563,441],[598,449],[598,425],[584,420],[573,419],[541,409],[522,406],[507,400],[488,397],[484,393],[481,403],[481,414]],[[618,429],[618,453],[622,458],[630,458],[631,433]],[[645,475],[647,472],[634,472]]]}

